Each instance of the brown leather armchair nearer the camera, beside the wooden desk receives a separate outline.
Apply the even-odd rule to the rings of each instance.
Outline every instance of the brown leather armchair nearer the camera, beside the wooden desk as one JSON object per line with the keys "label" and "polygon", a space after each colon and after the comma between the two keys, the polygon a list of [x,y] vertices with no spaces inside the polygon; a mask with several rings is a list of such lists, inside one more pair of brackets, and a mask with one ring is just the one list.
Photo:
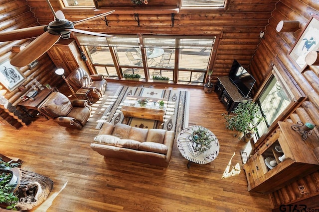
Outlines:
{"label": "brown leather armchair nearer the camera, beside the wooden desk", "polygon": [[64,94],[55,91],[38,106],[38,111],[60,126],[82,129],[92,109],[87,100],[69,100]]}

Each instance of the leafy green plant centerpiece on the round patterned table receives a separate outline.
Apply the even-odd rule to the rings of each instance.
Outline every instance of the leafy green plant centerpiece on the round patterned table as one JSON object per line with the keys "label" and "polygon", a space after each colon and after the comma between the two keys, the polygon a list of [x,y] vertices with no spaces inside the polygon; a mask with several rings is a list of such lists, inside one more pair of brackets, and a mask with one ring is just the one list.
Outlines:
{"label": "leafy green plant centerpiece on the round patterned table", "polygon": [[211,142],[215,141],[216,138],[213,137],[206,129],[199,128],[193,131],[191,135],[192,141],[197,144],[196,149],[202,153],[211,147]]}

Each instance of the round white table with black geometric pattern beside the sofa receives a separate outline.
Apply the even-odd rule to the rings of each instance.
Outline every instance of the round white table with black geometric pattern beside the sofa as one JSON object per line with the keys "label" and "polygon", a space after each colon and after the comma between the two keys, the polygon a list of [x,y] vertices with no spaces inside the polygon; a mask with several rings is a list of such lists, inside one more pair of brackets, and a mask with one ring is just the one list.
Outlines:
{"label": "round white table with black geometric pattern beside the sofa", "polygon": [[[215,141],[210,143],[211,147],[202,153],[198,152],[196,148],[194,148],[196,144],[194,144],[191,139],[193,131],[198,129],[207,130],[208,134],[215,138]],[[189,168],[191,162],[206,164],[216,159],[219,153],[219,142],[216,136],[207,128],[204,128],[202,126],[189,126],[187,128],[184,128],[179,133],[177,137],[177,148],[180,151],[181,155],[188,160],[187,168]]]}

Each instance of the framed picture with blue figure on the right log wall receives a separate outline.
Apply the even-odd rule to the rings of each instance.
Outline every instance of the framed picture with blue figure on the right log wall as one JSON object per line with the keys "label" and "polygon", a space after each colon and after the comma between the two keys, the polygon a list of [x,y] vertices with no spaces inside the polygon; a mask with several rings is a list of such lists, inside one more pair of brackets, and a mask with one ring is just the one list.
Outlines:
{"label": "framed picture with blue figure on the right log wall", "polygon": [[319,16],[314,15],[305,26],[294,47],[290,50],[289,56],[293,59],[297,68],[303,71],[307,67],[307,63],[305,62],[307,54],[318,48]]}

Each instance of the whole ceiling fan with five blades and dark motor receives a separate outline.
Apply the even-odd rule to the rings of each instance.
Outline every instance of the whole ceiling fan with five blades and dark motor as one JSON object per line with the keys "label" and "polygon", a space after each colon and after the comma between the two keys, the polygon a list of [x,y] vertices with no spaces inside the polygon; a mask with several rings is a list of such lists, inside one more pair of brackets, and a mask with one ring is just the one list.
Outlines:
{"label": "whole ceiling fan with five blades and dark motor", "polygon": [[46,2],[48,3],[55,18],[55,20],[50,22],[48,25],[33,26],[23,29],[15,29],[8,32],[0,32],[0,42],[37,37],[11,59],[11,65],[16,67],[27,66],[48,51],[60,39],[60,37],[69,39],[71,32],[78,32],[100,37],[114,37],[113,35],[75,29],[74,26],[109,15],[115,10],[71,22],[65,19],[61,10],[55,12],[49,0],[46,0]]}

